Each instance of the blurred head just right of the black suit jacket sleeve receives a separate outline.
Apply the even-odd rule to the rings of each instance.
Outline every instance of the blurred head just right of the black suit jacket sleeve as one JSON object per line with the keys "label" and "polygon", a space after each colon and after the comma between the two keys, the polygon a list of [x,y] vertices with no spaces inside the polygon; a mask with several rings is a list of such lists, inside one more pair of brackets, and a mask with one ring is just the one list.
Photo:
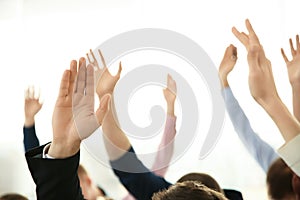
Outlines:
{"label": "blurred head just right of the black suit jacket sleeve", "polygon": [[78,166],[77,174],[79,177],[82,194],[85,199],[94,200],[97,199],[97,197],[105,196],[105,193],[102,192],[103,190],[100,190],[98,186],[93,183],[92,179],[82,165]]}

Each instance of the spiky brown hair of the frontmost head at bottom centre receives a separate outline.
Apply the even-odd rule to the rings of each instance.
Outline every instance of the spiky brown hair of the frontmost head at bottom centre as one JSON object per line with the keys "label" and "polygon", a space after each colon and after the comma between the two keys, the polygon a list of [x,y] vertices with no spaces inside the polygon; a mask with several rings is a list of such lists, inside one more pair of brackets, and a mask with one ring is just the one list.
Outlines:
{"label": "spiky brown hair of the frontmost head at bottom centre", "polygon": [[152,200],[226,200],[223,194],[196,181],[177,182],[169,189],[155,193]]}

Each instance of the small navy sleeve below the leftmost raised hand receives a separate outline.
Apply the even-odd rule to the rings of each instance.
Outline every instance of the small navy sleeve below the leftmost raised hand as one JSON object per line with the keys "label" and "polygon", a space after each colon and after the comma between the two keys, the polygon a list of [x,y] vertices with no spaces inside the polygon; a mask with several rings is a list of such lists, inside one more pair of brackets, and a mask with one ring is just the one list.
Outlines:
{"label": "small navy sleeve below the leftmost raised hand", "polygon": [[35,133],[35,125],[30,127],[23,126],[23,134],[24,134],[23,144],[24,144],[25,152],[40,146],[39,139],[37,138]]}

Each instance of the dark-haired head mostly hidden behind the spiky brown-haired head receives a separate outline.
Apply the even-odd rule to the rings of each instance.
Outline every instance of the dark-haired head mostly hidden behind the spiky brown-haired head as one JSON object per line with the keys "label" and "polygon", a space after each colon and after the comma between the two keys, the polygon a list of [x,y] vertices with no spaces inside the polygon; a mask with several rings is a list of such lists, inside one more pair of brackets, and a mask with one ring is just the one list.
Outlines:
{"label": "dark-haired head mostly hidden behind the spiky brown-haired head", "polygon": [[223,193],[223,190],[218,182],[213,177],[205,173],[189,173],[182,176],[177,182],[181,183],[184,181],[197,181],[209,187],[210,189]]}

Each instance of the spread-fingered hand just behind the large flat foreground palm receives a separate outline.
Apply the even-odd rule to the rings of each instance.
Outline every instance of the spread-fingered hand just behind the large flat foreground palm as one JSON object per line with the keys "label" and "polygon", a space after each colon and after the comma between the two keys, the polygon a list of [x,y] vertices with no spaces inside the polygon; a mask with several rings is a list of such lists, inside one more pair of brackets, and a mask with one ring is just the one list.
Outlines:
{"label": "spread-fingered hand just behind the large flat foreground palm", "polygon": [[90,54],[93,57],[93,61],[90,59],[88,54],[86,54],[86,55],[87,55],[89,62],[94,65],[96,92],[97,92],[99,98],[101,99],[105,94],[113,93],[115,85],[118,82],[118,80],[120,79],[120,75],[121,75],[121,71],[122,71],[122,64],[121,64],[121,62],[119,63],[118,73],[115,76],[112,76],[106,66],[105,59],[102,55],[102,52],[99,49],[98,49],[98,53],[99,53],[99,56],[100,56],[102,64],[103,64],[103,68],[99,67],[97,59],[91,49],[90,49]]}

